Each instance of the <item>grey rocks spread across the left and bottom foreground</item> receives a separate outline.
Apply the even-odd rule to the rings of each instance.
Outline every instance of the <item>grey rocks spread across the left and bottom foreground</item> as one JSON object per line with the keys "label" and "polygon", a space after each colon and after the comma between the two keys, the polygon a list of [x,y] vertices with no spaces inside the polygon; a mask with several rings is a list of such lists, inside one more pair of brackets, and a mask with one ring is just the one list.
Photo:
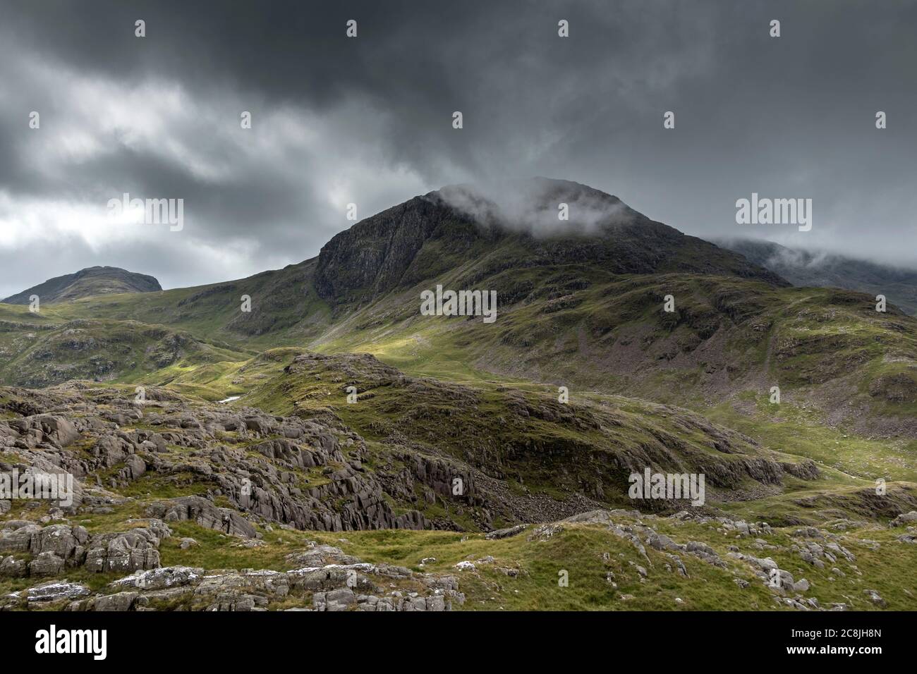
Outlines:
{"label": "grey rocks spread across the left and bottom foreground", "polygon": [[[291,367],[306,365],[296,359]],[[0,412],[21,416],[0,420],[0,470],[66,471],[74,478],[74,498],[52,501],[50,507],[22,498],[0,502],[0,582],[6,587],[0,610],[446,611],[464,601],[457,577],[473,577],[475,585],[466,584],[464,591],[484,603],[480,594],[499,594],[504,582],[529,576],[532,567],[496,553],[470,555],[450,563],[448,573],[455,575],[447,575],[371,564],[333,545],[312,543],[280,563],[271,557],[276,548],[257,548],[279,543],[288,552],[291,536],[285,530],[459,528],[457,521],[469,520],[484,531],[492,528],[490,522],[505,523],[482,537],[492,542],[487,545],[529,549],[555,546],[558,539],[565,543],[569,530],[580,525],[602,528],[624,542],[624,552],[617,548],[624,562],[602,557],[602,590],[611,592],[613,602],[639,604],[645,597],[634,589],[641,587],[637,583],[652,586],[660,575],[679,576],[668,581],[680,583],[728,574],[728,589],[751,587],[747,594],[754,594],[755,602],[763,596],[781,608],[843,610],[847,604],[821,606],[814,595],[827,582],[859,582],[864,574],[856,568],[856,556],[880,547],[849,535],[860,528],[858,536],[873,536],[866,534],[865,522],[787,527],[778,539],[767,523],[722,516],[711,506],[668,517],[661,511],[608,511],[580,492],[563,502],[528,490],[498,500],[534,504],[529,512],[535,516],[525,520],[529,524],[514,525],[517,518],[504,516],[512,509],[495,507],[488,513],[492,494],[506,490],[506,482],[406,444],[380,450],[377,441],[370,455],[363,438],[333,414],[303,418],[231,410],[157,389],[149,390],[146,404],[137,405],[123,391],[87,391],[79,383],[45,392],[2,391]],[[537,418],[553,414],[547,407],[525,406],[523,399],[518,410]],[[717,479],[726,483],[748,475],[776,485],[782,472],[814,474],[804,462],[781,468],[751,456],[730,465],[735,476]],[[464,492],[453,498],[456,478]],[[889,522],[892,531],[883,528],[877,537],[882,546],[912,549],[917,512],[905,512],[910,508],[901,503],[907,502],[883,502],[889,518],[897,516]],[[405,504],[440,506],[427,512],[445,514],[432,520]],[[570,515],[570,508],[577,514]],[[547,514],[554,516],[546,519]],[[681,525],[709,535],[677,536]],[[163,546],[172,536],[178,540]],[[729,545],[718,544],[724,541]],[[238,555],[237,548],[246,549],[232,558],[244,561],[226,566],[252,568],[204,568],[204,559],[216,549]],[[436,550],[427,552],[440,557]],[[163,568],[163,555],[171,558],[165,562],[171,566]],[[175,566],[175,561],[191,566]],[[571,565],[576,561],[574,556]],[[424,555],[417,562],[416,569],[437,564]],[[868,602],[867,608],[885,608],[900,602],[882,584],[866,580],[855,594],[843,595],[851,606]],[[622,582],[630,584],[619,587]],[[108,584],[99,591],[101,583]],[[865,590],[869,587],[886,592],[889,602],[877,590]],[[686,600],[690,605],[691,597]]]}

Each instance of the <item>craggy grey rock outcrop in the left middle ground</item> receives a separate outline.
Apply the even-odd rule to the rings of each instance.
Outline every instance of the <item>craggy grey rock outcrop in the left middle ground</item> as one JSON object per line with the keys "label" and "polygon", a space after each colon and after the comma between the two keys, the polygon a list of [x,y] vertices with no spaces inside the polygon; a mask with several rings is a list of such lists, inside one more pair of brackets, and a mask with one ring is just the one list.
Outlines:
{"label": "craggy grey rock outcrop in the left middle ground", "polygon": [[[16,393],[24,401],[39,395],[23,390]],[[95,480],[113,490],[150,473],[166,479],[191,473],[210,485],[209,492],[152,503],[147,508],[150,517],[191,520],[244,537],[255,536],[246,515],[256,521],[324,531],[432,526],[419,512],[396,514],[392,510],[385,493],[391,482],[379,481],[363,470],[368,455],[356,434],[301,417],[191,405],[155,388],[147,390],[145,405],[121,392],[93,393],[92,400],[69,393],[19,407],[29,413],[40,407],[65,409],[78,411],[79,416],[28,414],[0,422],[0,448],[22,450],[19,456],[25,455],[29,463],[22,470],[63,470],[74,478],[78,493],[72,507],[65,509],[68,513],[75,513],[83,503],[83,481],[94,473],[105,471],[104,482]],[[132,427],[141,420],[146,428]],[[83,451],[67,451],[77,441]],[[253,455],[263,459],[253,459]],[[7,468],[2,458],[0,455],[0,470]],[[444,478],[440,491],[445,484]],[[216,496],[226,497],[233,507],[215,506]],[[8,507],[4,505],[5,510]],[[134,552],[128,557],[137,558],[140,553],[135,542],[121,539],[116,545],[131,548]],[[114,558],[125,554],[113,550]],[[155,551],[143,554],[143,564],[155,562]]]}

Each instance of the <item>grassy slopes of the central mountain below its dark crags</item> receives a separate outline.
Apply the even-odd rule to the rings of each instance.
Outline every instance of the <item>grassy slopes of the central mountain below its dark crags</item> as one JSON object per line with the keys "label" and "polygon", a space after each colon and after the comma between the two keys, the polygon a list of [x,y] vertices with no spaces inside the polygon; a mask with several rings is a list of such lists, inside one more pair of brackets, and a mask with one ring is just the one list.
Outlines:
{"label": "grassy slopes of the central mountain below its dark crags", "polygon": [[[779,385],[785,399],[799,392],[823,409],[840,395],[868,414],[917,414],[917,324],[894,309],[878,314],[866,295],[696,274],[620,276],[580,264],[503,269],[523,255],[512,241],[464,263],[456,255],[447,239],[428,242],[408,273],[423,282],[361,307],[332,310],[321,301],[309,260],[238,282],[89,298],[52,311],[60,319],[161,323],[249,353],[367,351],[448,379],[496,373],[699,408]],[[499,288],[500,317],[484,325],[417,315],[420,290],[436,282]],[[239,311],[243,294],[252,297],[250,314]],[[661,311],[668,294],[674,314]],[[896,387],[897,399],[883,396]]]}

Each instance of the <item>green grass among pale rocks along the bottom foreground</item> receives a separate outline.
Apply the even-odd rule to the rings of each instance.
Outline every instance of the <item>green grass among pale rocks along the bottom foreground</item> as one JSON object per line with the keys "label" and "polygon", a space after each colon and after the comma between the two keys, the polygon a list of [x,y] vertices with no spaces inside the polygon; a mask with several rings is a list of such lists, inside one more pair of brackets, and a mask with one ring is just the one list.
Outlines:
{"label": "green grass among pale rocks along the bottom foreground", "polygon": [[[124,516],[122,514],[121,516]],[[634,524],[626,515],[616,516],[619,524]],[[93,529],[106,528],[93,523]],[[727,561],[727,569],[713,567],[688,553],[678,553],[688,577],[667,570],[672,562],[652,547],[646,548],[649,563],[628,541],[614,536],[600,525],[564,524],[563,530],[547,540],[528,540],[534,531],[529,527],[523,534],[489,541],[480,534],[458,534],[436,531],[382,530],[363,532],[299,532],[275,529],[264,531],[260,547],[240,546],[240,540],[204,529],[190,522],[170,523],[172,536],[160,545],[164,566],[183,565],[214,569],[273,569],[291,568],[285,557],[302,551],[306,542],[314,540],[341,547],[353,555],[372,563],[404,566],[414,571],[450,573],[459,581],[459,589],[466,594],[464,605],[455,604],[458,610],[775,610],[772,594],[743,562],[728,558],[730,546],[746,555],[770,557],[781,569],[787,569],[796,580],[805,578],[812,589],[805,593],[816,598],[823,606],[832,602],[845,602],[856,610],[876,608],[868,601],[864,590],[877,590],[889,602],[890,610],[915,610],[917,600],[912,596],[910,569],[917,561],[917,547],[898,543],[898,533],[883,527],[855,529],[843,534],[841,544],[855,556],[855,562],[839,558],[826,563],[825,569],[816,569],[790,551],[790,546],[800,539],[790,536],[793,527],[774,529],[767,536],[768,544],[778,550],[760,550],[754,539],[724,536],[714,525],[693,522],[680,523],[665,519],[646,520],[660,533],[685,543],[700,540],[714,548]],[[100,526],[101,525],[101,526]],[[182,537],[193,537],[198,545],[182,550]],[[876,541],[878,549],[860,542]],[[423,558],[436,558],[425,567],[419,566]],[[492,562],[479,562],[492,557]],[[469,559],[475,570],[458,570],[455,565]],[[646,569],[646,579],[631,562]],[[863,575],[857,575],[856,570]],[[837,567],[844,576],[836,574]],[[674,569],[674,567],[672,567]],[[501,569],[514,569],[515,577]],[[69,580],[88,583],[94,590],[102,590],[114,580],[110,574],[91,574],[71,569]],[[558,573],[566,571],[569,584],[558,584]],[[617,587],[606,580],[613,573]],[[746,580],[749,585],[739,589],[734,579]],[[13,591],[28,587],[25,580],[4,580],[0,591]],[[911,591],[911,595],[906,592]],[[623,600],[622,595],[633,599]],[[676,602],[676,598],[682,602]],[[308,604],[308,597],[292,598],[291,605]],[[780,607],[784,610],[784,607]]]}

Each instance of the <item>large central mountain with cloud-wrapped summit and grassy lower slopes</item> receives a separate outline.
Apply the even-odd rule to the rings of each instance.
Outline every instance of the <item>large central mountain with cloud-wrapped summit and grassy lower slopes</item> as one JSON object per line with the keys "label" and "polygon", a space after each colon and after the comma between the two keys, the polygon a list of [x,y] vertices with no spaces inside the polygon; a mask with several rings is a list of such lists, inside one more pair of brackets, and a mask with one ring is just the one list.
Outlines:
{"label": "large central mountain with cloud-wrapped summit and grassy lower slopes", "polygon": [[[558,220],[558,204],[569,206],[569,221]],[[421,293],[436,285],[495,291],[498,319],[421,315]],[[240,311],[244,294],[250,312]],[[777,385],[833,423],[917,436],[913,319],[894,306],[876,312],[874,295],[792,287],[575,182],[448,187],[370,216],[283,270],[83,298],[44,314],[62,334],[87,319],[160,324],[218,352],[367,351],[424,374],[486,372],[698,409]],[[54,348],[32,343],[34,323],[9,317],[0,381],[68,379],[48,379]],[[198,385],[200,360],[185,369],[182,358],[172,360],[177,380]],[[147,376],[145,368],[106,365],[105,379]]]}

